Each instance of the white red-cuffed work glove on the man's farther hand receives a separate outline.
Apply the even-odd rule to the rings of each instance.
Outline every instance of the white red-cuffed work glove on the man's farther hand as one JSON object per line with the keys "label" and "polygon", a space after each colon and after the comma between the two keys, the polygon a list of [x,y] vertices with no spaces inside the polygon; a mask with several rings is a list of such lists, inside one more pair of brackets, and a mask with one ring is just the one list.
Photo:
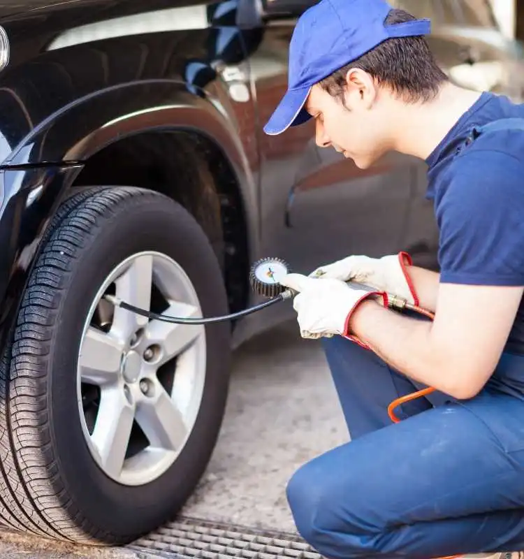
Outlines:
{"label": "white red-cuffed work glove on the man's farther hand", "polygon": [[419,305],[419,297],[408,273],[408,266],[411,265],[412,259],[407,252],[383,256],[380,259],[348,256],[316,268],[310,277],[366,284],[378,291],[405,299],[412,305]]}

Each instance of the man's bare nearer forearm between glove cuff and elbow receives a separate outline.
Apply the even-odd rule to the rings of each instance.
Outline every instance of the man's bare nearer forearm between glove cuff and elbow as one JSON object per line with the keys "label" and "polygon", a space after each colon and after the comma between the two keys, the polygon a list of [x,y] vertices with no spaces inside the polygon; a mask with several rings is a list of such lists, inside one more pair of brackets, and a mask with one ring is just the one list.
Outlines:
{"label": "man's bare nearer forearm between glove cuff and elbow", "polygon": [[351,319],[351,331],[388,365],[422,384],[467,398],[460,378],[435,347],[431,328],[430,321],[407,317],[374,300],[361,303]]}

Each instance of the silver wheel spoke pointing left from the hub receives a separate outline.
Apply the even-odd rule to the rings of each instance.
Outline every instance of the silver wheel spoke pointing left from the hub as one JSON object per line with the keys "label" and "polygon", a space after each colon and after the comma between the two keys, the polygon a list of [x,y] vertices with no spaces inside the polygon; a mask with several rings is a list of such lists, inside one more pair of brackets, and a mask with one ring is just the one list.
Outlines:
{"label": "silver wheel spoke pointing left from the hub", "polygon": [[78,358],[82,382],[97,386],[117,382],[121,359],[122,344],[89,326]]}

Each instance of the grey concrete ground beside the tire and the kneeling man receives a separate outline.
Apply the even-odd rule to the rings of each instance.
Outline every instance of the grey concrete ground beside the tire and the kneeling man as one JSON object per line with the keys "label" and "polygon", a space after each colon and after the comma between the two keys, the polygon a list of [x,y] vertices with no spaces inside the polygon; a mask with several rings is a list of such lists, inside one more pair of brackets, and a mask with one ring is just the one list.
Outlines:
{"label": "grey concrete ground beside the tire and the kneeling man", "polygon": [[[296,321],[235,352],[231,393],[217,448],[182,514],[293,532],[286,483],[301,464],[348,440],[319,342]],[[131,551],[56,544],[0,532],[2,559],[147,558]]]}

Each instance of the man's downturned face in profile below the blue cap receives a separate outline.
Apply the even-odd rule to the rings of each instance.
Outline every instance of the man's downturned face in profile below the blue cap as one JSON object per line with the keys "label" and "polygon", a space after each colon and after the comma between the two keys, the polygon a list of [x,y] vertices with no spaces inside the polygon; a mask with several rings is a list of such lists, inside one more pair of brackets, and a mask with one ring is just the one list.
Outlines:
{"label": "man's downturned face in profile below the blue cap", "polygon": [[317,84],[311,89],[305,109],[315,119],[316,145],[333,147],[365,169],[390,148],[384,119],[374,102],[374,91],[350,85],[345,101],[346,107]]}

